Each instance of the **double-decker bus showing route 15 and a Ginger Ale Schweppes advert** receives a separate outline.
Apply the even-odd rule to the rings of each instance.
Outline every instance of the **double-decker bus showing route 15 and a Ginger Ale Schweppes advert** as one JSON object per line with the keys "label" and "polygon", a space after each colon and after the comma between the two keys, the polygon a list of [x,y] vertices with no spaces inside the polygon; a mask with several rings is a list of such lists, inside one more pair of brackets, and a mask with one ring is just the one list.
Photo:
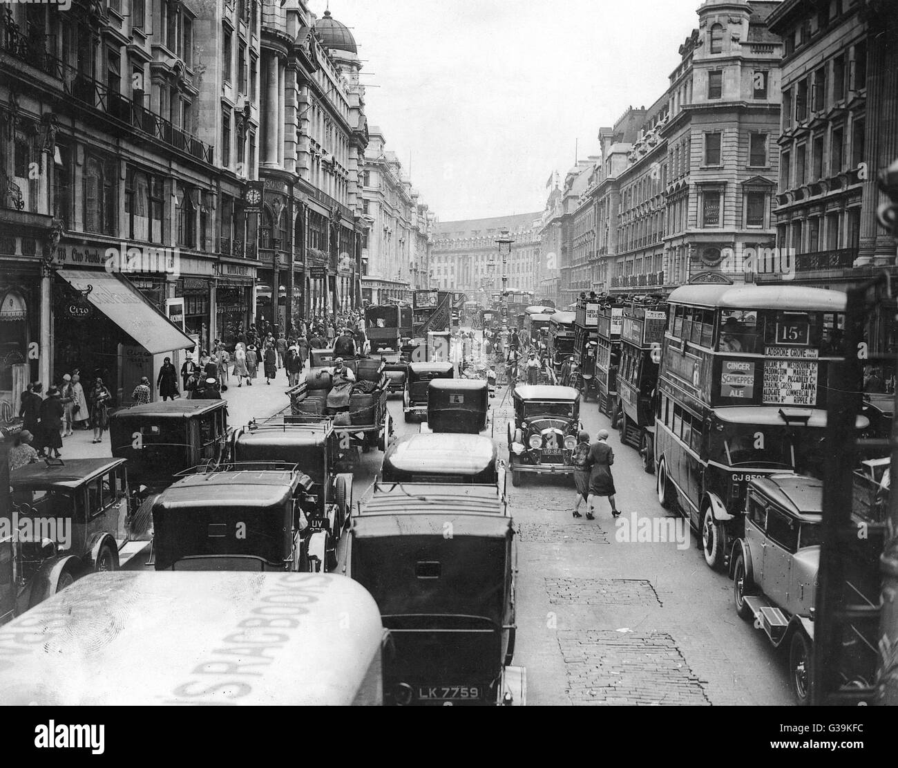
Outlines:
{"label": "double-decker bus showing route 15 and a Ginger Ale Schweppes advert", "polygon": [[[796,286],[688,285],[668,296],[658,373],[656,490],[722,568],[749,481],[823,473],[830,367],[846,296]],[[868,420],[858,417],[857,428]],[[830,450],[838,450],[832,446]]]}

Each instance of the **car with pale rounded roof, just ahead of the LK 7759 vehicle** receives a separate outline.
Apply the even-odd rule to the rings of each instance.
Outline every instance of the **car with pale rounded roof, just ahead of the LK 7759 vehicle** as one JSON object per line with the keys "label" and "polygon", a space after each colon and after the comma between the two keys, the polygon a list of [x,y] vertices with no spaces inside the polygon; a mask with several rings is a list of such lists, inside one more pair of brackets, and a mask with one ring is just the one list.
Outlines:
{"label": "car with pale rounded roof, just ahead of the LK 7759 vehicle", "polygon": [[[381,482],[452,483],[500,488],[496,444],[483,435],[431,433],[398,440],[383,457]],[[504,489],[502,489],[504,494]]]}

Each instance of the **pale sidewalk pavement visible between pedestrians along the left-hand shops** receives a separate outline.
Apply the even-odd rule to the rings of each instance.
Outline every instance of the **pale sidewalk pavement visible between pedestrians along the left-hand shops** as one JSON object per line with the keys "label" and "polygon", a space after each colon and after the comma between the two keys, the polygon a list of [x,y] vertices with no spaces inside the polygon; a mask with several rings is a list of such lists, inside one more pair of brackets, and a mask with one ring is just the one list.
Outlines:
{"label": "pale sidewalk pavement visible between pedestrians along the left-hand shops", "polygon": [[[283,368],[277,371],[277,378],[271,383],[265,383],[265,376],[260,374],[253,379],[252,386],[243,384],[237,386],[236,378],[231,375],[227,382],[227,391],[222,395],[227,401],[228,424],[239,427],[250,419],[268,418],[274,416],[277,411],[290,405],[290,399],[286,396],[289,388],[286,381],[286,373]],[[154,393],[158,399],[158,392]],[[62,441],[60,454],[63,461],[66,459],[92,459],[111,456],[110,433],[103,433],[101,443],[93,443],[92,429],[76,429],[71,437],[65,437]]]}

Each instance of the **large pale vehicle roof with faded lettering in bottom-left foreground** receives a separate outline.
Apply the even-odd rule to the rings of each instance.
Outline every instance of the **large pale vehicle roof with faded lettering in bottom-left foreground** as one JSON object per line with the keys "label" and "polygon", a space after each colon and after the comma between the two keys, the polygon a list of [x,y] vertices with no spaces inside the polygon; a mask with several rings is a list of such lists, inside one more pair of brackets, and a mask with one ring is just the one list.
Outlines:
{"label": "large pale vehicle roof with faded lettering in bottom-left foreground", "polygon": [[343,576],[98,573],[4,635],[4,704],[383,704],[381,617]]}

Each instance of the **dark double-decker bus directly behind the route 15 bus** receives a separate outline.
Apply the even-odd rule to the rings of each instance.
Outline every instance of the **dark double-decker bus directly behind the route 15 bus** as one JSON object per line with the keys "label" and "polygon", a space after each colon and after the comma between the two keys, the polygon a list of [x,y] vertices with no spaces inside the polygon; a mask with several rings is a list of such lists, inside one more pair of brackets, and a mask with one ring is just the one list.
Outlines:
{"label": "dark double-decker bus directly behind the route 15 bus", "polygon": [[642,456],[642,468],[655,472],[655,402],[667,305],[657,297],[625,306],[621,324],[617,413],[621,443]]}

